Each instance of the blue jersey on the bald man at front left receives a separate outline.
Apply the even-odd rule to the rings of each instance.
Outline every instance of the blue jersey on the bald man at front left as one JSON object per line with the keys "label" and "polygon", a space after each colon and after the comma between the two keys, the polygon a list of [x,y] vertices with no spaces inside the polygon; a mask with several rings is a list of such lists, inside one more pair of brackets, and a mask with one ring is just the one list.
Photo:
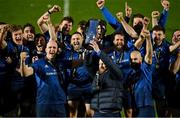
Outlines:
{"label": "blue jersey on the bald man at front left", "polygon": [[46,59],[32,64],[37,83],[37,104],[64,104],[66,95],[61,87],[57,69]]}

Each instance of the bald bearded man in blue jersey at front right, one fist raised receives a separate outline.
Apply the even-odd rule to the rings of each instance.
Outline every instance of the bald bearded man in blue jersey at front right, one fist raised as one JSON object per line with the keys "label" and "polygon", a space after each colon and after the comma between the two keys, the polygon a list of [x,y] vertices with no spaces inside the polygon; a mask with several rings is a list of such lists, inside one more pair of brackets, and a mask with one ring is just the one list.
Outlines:
{"label": "bald bearded man in blue jersey at front right, one fist raised", "polygon": [[[155,117],[152,97],[152,55],[150,32],[145,31],[146,55],[143,59],[139,51],[130,55],[132,71],[128,74],[126,84],[131,88],[135,101],[135,117]],[[144,61],[143,61],[144,60]]]}

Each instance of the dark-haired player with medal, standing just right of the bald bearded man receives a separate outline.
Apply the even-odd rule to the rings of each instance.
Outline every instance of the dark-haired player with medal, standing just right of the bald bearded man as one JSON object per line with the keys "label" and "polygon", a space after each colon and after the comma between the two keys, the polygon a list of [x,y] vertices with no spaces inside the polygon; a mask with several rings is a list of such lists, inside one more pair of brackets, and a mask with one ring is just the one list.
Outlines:
{"label": "dark-haired player with medal, standing just right of the bald bearded man", "polygon": [[165,29],[155,26],[152,29],[153,44],[153,97],[159,117],[167,117],[167,91],[169,86],[170,44],[165,39]]}

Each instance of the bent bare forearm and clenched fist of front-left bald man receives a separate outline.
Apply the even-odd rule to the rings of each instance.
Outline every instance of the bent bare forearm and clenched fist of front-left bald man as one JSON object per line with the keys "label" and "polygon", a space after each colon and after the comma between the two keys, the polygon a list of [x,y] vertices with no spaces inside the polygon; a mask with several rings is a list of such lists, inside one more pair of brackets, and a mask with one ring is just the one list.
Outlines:
{"label": "bent bare forearm and clenched fist of front-left bald man", "polygon": [[21,52],[20,54],[21,58],[21,64],[20,64],[20,74],[21,76],[28,77],[30,75],[33,75],[34,70],[32,67],[28,67],[28,65],[25,64],[25,60],[27,58],[27,53],[26,52]]}

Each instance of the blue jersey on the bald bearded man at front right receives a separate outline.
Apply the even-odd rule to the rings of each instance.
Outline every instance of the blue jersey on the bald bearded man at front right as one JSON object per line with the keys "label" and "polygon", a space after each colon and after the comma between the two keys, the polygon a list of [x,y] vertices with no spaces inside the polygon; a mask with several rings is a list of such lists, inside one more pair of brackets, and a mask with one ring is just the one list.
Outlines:
{"label": "blue jersey on the bald bearded man at front right", "polygon": [[140,70],[129,73],[130,81],[134,81],[132,93],[137,107],[153,106],[152,98],[152,66],[143,62]]}

